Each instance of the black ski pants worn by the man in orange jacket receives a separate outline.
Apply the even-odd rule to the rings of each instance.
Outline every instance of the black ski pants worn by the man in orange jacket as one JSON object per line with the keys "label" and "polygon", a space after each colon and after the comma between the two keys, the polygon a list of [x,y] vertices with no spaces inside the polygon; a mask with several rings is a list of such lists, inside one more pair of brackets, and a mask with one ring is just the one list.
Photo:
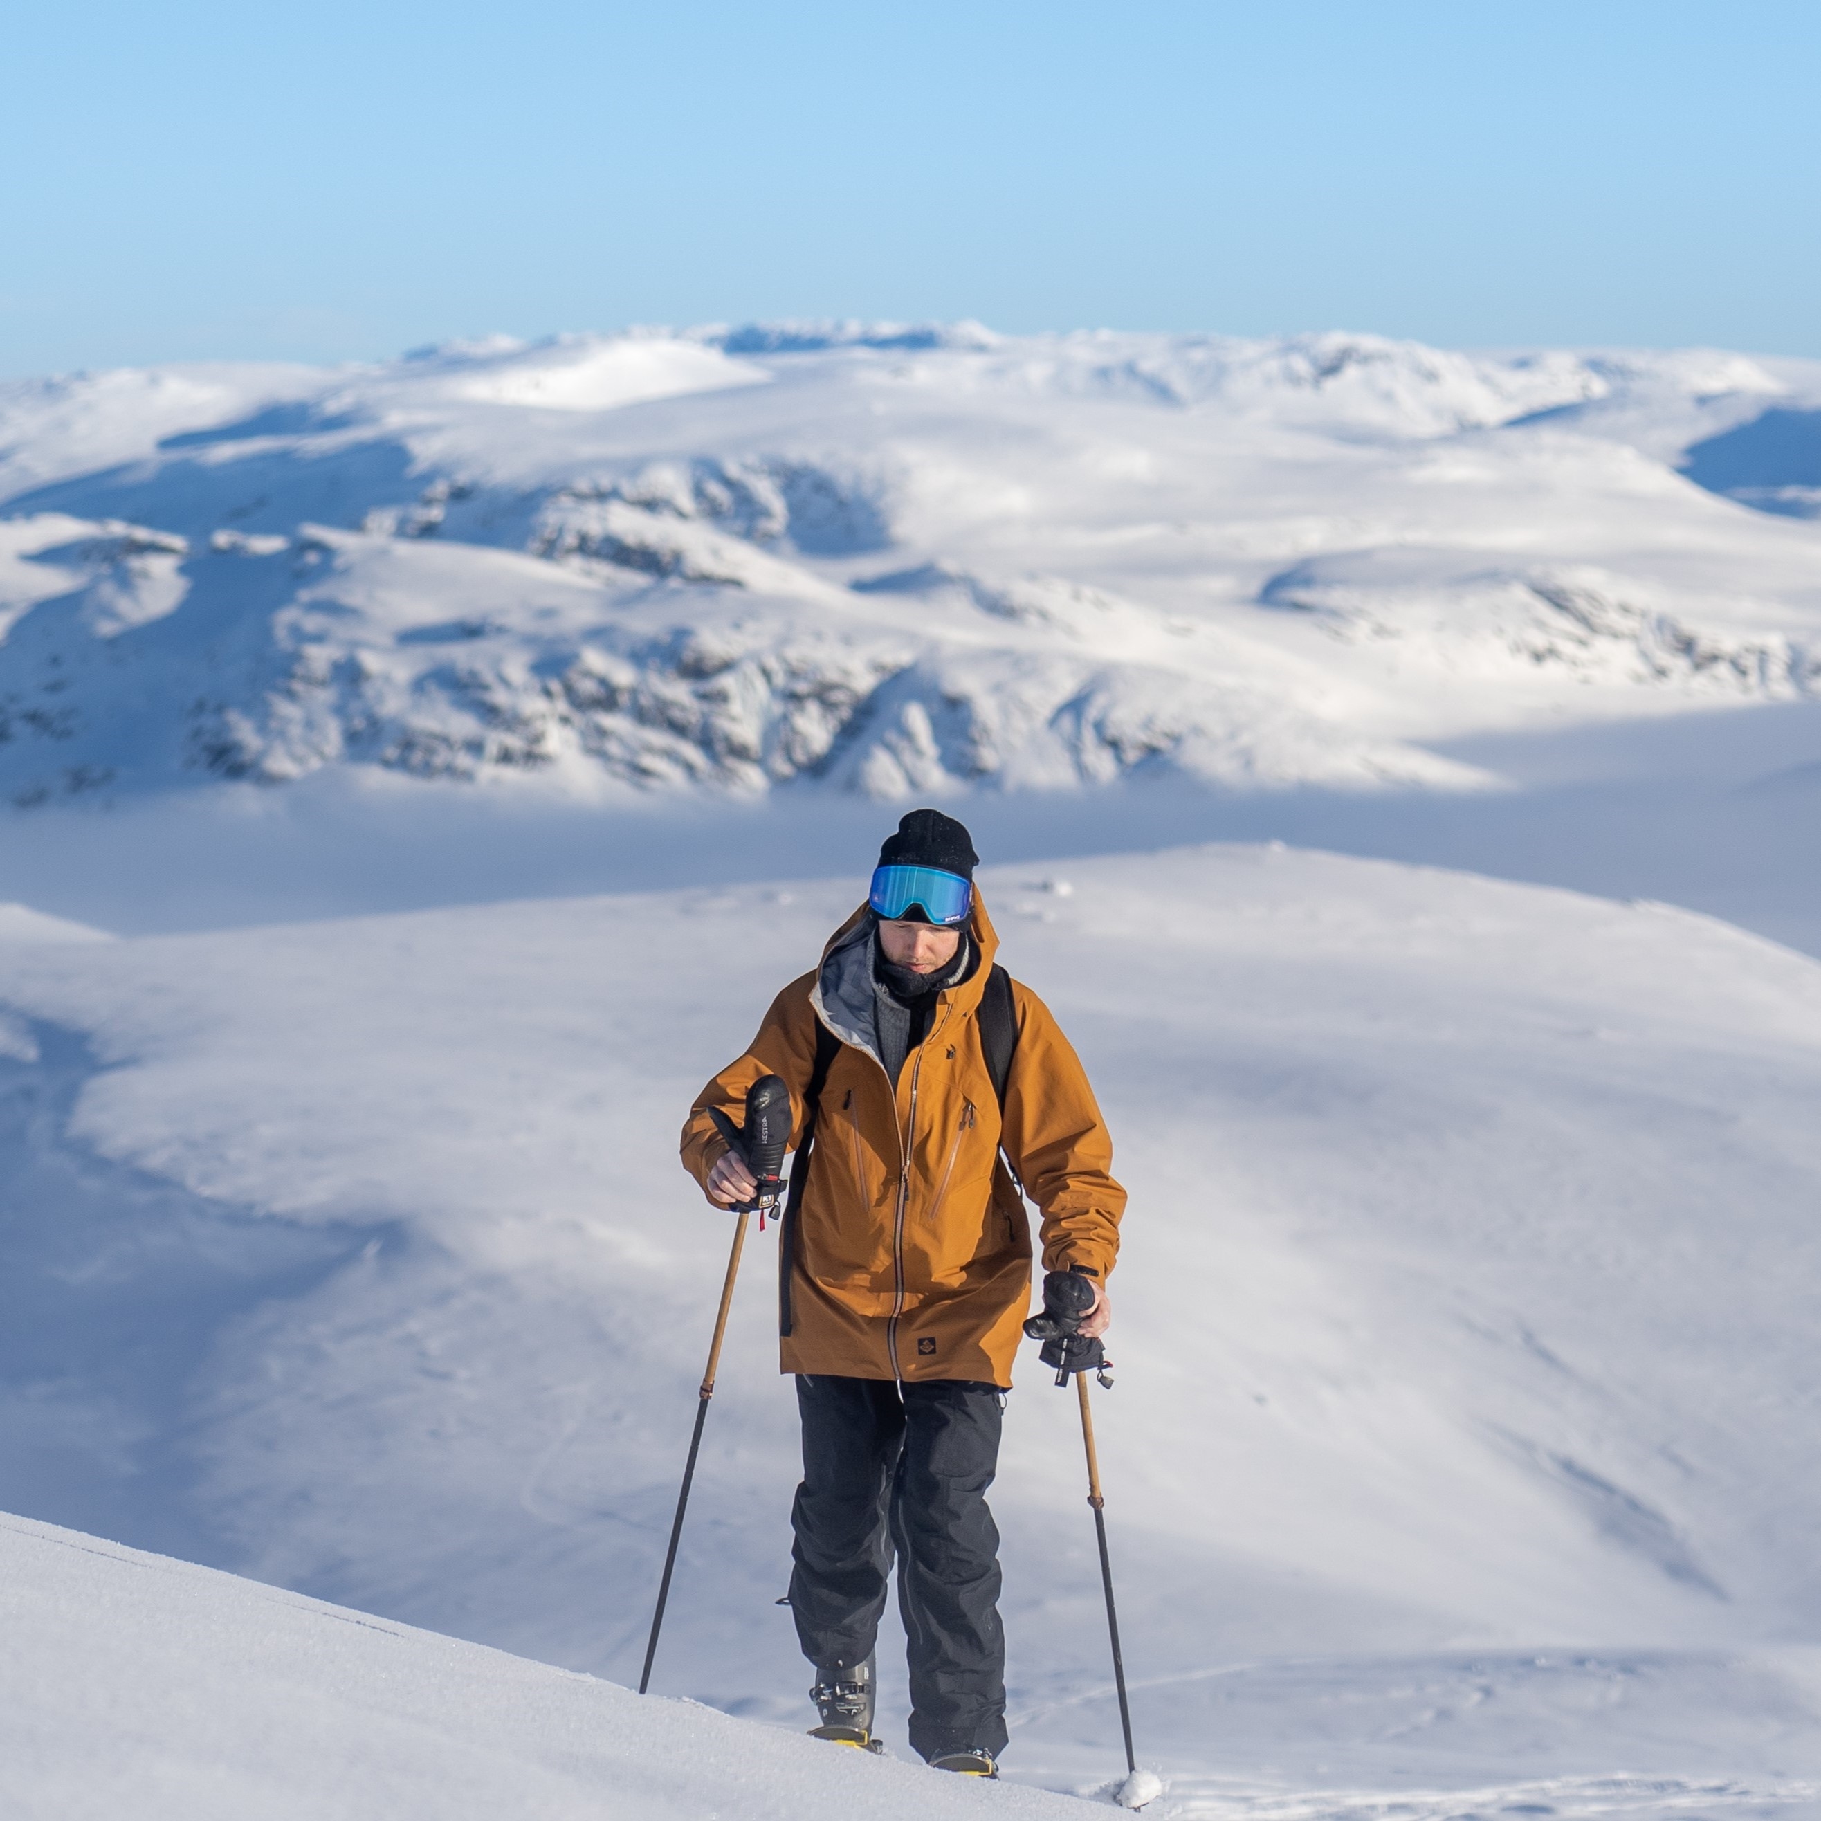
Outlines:
{"label": "black ski pants worn by the man in orange jacket", "polygon": [[1002,1393],[925,1378],[798,1377],[803,1484],[790,1610],[818,1670],[865,1663],[898,1557],[910,1657],[910,1745],[923,1757],[1005,1750],[1000,1531],[987,1488]]}

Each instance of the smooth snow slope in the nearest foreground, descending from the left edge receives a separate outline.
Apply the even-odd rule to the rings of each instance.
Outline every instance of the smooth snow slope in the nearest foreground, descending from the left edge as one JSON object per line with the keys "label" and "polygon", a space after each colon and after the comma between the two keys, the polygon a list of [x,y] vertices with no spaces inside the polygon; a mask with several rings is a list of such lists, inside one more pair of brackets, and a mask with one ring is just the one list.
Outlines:
{"label": "smooth snow slope in the nearest foreground, descending from the left edge", "polygon": [[[960,1779],[0,1517],[20,1821],[896,1821]],[[994,1790],[1007,1816],[1078,1805]]]}

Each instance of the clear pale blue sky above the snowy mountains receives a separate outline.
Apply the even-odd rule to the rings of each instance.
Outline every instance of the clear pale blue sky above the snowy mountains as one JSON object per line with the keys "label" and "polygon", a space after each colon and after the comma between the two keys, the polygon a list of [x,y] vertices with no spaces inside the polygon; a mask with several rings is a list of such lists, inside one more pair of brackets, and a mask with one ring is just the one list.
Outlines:
{"label": "clear pale blue sky above the snowy mountains", "polygon": [[1821,5],[13,0],[0,373],[756,317],[1821,355]]}

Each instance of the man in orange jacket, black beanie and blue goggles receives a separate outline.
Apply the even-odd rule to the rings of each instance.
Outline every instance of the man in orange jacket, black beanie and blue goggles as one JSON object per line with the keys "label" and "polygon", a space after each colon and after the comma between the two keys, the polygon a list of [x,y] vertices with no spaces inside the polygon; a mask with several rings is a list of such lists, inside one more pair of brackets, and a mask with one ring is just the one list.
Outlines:
{"label": "man in orange jacket, black beanie and blue goggles", "polygon": [[910,1743],[991,1777],[1005,1639],[985,1493],[1031,1304],[1018,1185],[1042,1211],[1045,1269],[1094,1286],[1085,1335],[1111,1318],[1125,1191],[1074,1051],[1034,992],[994,978],[976,865],[961,823],[903,818],[867,903],[696,1100],[683,1164],[717,1206],[750,1200],[710,1107],[738,1118],[759,1076],[783,1078],[798,1160],[779,1328],[803,1419],[790,1608],[816,1666],[816,1735],[878,1750],[872,1648],[896,1553]]}

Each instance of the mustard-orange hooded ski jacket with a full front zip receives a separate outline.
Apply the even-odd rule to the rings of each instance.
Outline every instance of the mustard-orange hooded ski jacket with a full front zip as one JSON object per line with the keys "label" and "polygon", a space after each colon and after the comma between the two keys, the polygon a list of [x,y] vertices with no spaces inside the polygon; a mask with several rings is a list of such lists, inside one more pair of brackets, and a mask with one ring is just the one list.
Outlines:
{"label": "mustard-orange hooded ski jacket with a full front zip", "polygon": [[727,1151],[708,1107],[738,1124],[747,1089],[778,1074],[790,1087],[794,1149],[818,1022],[841,1040],[798,1220],[787,1373],[1011,1384],[1031,1307],[1031,1224],[1000,1145],[1042,1213],[1043,1267],[1080,1264],[1102,1282],[1113,1271],[1125,1191],[1087,1074],[1049,1007],[1012,982],[1018,1049],[1002,1125],[978,1027],[998,936],[978,892],[971,934],[980,963],[938,994],[896,1091],[874,1040],[872,920],[861,907],[821,967],[778,994],[683,1125],[683,1167],[707,1189]]}

